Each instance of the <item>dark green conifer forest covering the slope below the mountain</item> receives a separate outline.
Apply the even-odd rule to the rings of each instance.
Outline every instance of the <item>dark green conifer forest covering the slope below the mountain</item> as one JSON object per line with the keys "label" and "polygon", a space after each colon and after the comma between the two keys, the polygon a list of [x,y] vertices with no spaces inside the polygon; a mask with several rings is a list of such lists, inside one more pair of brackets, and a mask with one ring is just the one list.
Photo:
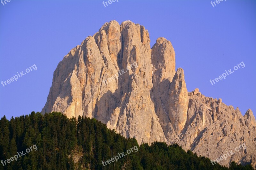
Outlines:
{"label": "dark green conifer forest covering the slope below the mountain", "polygon": [[[212,165],[210,159],[185,152],[179,145],[167,146],[163,142],[138,145],[134,138],[124,138],[109,130],[96,119],[73,117],[68,119],[61,113],[45,115],[32,112],[30,115],[0,120],[0,161],[10,159],[17,152],[35,145],[36,151],[18,158],[2,169],[253,169],[232,162],[230,168]],[[127,154],[118,161],[102,165],[114,156],[137,146],[138,152]],[[81,159],[74,163],[74,156]],[[121,154],[120,154],[121,155]]]}

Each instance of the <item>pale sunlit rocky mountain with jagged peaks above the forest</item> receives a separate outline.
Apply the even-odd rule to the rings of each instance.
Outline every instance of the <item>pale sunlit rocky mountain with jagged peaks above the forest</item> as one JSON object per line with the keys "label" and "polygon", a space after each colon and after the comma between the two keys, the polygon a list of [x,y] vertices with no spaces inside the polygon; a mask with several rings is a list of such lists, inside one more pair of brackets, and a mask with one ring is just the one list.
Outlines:
{"label": "pale sunlit rocky mountain with jagged peaks above the forest", "polygon": [[42,113],[96,118],[139,143],[180,144],[198,155],[219,158],[245,143],[220,164],[256,164],[256,121],[221,99],[188,92],[184,71],[175,69],[170,41],[150,49],[144,26],[105,23],[58,64]]}

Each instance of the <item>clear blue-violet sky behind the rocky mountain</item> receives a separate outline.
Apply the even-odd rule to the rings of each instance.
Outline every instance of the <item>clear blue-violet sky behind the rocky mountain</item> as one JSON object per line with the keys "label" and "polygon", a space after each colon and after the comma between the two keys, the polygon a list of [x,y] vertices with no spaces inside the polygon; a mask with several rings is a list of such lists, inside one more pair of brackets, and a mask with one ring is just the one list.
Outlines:
{"label": "clear blue-violet sky behind the rocky mountain", "polygon": [[[139,23],[148,29],[151,47],[158,37],[172,42],[176,69],[185,72],[188,91],[256,115],[256,1],[11,0],[0,4],[0,81],[36,64],[37,70],[7,86],[0,84],[0,117],[41,111],[62,58],[111,20]],[[244,62],[215,85],[210,79]]]}

